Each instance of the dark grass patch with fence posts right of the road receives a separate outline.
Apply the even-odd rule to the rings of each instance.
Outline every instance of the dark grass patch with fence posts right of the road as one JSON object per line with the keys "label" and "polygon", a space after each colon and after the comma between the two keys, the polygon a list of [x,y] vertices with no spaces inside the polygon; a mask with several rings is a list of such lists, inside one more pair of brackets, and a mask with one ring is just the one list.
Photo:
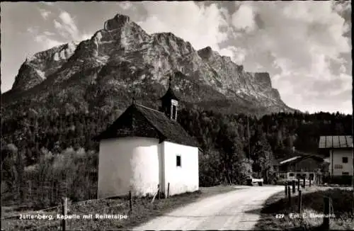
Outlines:
{"label": "dark grass patch with fence posts right of the road", "polygon": [[[322,230],[323,218],[311,218],[310,214],[324,213],[324,197],[332,200],[333,212],[336,218],[330,219],[331,230],[353,230],[353,191],[348,188],[307,188],[302,196],[302,212],[306,218],[291,218],[290,213],[297,213],[297,193],[292,198],[292,205],[287,205],[284,192],[276,193],[266,201],[261,210],[261,220],[256,224],[257,230]],[[283,214],[284,218],[277,218]]]}

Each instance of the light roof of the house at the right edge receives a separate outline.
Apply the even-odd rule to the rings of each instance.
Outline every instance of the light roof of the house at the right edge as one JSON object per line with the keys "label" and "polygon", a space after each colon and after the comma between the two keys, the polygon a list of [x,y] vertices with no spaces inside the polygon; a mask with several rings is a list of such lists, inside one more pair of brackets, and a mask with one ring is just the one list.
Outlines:
{"label": "light roof of the house at the right edge", "polygon": [[353,147],[351,135],[328,135],[319,137],[319,148],[348,148]]}

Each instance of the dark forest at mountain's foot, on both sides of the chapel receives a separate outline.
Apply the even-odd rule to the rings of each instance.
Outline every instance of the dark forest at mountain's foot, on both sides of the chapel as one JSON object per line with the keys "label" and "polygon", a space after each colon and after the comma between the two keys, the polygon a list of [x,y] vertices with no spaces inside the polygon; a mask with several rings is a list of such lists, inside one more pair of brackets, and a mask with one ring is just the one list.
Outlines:
{"label": "dark forest at mountain's foot, on both sides of the chapel", "polygon": [[[1,120],[1,193],[18,195],[13,201],[23,200],[21,188],[28,181],[65,181],[73,200],[94,198],[98,142],[92,138],[117,117],[116,113],[40,116],[29,110]],[[241,184],[251,172],[270,182],[274,159],[290,156],[293,147],[316,153],[320,135],[352,134],[352,116],[341,113],[274,113],[256,118],[183,108],[178,122],[202,149],[200,186]]]}

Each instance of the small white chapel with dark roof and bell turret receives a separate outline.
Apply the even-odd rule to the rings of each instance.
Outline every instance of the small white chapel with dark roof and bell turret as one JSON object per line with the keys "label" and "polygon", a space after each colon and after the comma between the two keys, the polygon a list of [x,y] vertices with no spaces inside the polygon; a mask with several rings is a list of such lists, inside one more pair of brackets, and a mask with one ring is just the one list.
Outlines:
{"label": "small white chapel with dark roof and bell turret", "polygon": [[197,191],[198,142],[177,122],[179,98],[169,89],[159,111],[135,102],[96,137],[98,198]]}

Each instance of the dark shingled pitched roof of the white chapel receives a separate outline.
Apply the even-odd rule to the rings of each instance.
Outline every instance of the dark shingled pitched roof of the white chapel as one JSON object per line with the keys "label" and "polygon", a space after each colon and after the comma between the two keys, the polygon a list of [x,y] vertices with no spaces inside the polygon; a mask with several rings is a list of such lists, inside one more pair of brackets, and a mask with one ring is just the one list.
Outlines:
{"label": "dark shingled pitched roof of the white chapel", "polygon": [[95,139],[104,140],[127,136],[156,137],[160,142],[169,141],[198,147],[198,142],[176,120],[171,120],[164,113],[137,103],[132,103],[112,125]]}

